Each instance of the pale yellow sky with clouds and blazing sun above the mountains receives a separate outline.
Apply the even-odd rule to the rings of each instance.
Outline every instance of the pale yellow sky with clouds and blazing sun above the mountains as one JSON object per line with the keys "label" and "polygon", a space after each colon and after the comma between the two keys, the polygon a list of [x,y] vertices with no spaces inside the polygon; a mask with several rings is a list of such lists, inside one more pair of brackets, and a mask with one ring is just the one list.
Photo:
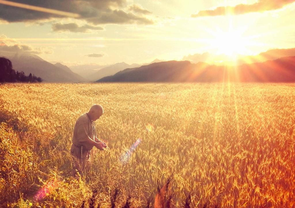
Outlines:
{"label": "pale yellow sky with clouds and blazing sun above the mountains", "polygon": [[67,66],[295,48],[295,0],[11,2],[0,0],[0,54],[32,53]]}

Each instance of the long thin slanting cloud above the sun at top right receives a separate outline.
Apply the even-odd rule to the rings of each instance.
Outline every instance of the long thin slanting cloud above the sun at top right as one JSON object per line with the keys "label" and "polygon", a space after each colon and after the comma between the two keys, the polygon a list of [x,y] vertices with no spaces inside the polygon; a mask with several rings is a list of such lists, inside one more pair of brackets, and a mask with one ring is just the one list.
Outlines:
{"label": "long thin slanting cloud above the sun at top right", "polygon": [[260,0],[255,4],[238,4],[236,6],[220,6],[213,10],[201,10],[196,14],[192,14],[191,17],[246,14],[250,12],[270,11],[281,9],[283,6],[293,2],[295,2],[295,0]]}

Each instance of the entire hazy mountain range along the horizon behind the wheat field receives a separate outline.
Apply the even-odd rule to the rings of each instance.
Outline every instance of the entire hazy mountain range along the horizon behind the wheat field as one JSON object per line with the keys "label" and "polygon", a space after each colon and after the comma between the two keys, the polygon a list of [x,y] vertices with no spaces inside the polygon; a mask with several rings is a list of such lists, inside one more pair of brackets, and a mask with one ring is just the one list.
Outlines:
{"label": "entire hazy mountain range along the horizon behind the wheat field", "polygon": [[[295,48],[274,49],[244,57],[238,66],[214,65],[205,62],[160,61],[127,64],[124,62],[93,68],[74,68],[62,63],[49,63],[37,55],[17,53],[4,56],[13,69],[41,77],[45,82],[294,82]],[[255,62],[255,63],[254,63]],[[96,65],[100,66],[100,65]],[[93,66],[90,66],[93,67]]]}

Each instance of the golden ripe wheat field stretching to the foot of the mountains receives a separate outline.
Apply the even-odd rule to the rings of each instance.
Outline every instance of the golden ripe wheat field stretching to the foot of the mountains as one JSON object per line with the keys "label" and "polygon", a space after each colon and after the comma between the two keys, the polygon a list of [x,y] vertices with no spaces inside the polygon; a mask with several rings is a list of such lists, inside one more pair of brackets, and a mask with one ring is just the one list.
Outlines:
{"label": "golden ripe wheat field stretching to the foot of the mountains", "polygon": [[[118,207],[128,197],[131,207],[156,207],[158,187],[170,180],[171,207],[189,194],[191,207],[294,207],[294,100],[287,83],[0,85],[1,111],[19,125],[1,123],[0,199],[110,207],[118,189]],[[108,149],[94,148],[86,179],[75,180],[73,126],[93,104],[104,107],[96,130]]]}

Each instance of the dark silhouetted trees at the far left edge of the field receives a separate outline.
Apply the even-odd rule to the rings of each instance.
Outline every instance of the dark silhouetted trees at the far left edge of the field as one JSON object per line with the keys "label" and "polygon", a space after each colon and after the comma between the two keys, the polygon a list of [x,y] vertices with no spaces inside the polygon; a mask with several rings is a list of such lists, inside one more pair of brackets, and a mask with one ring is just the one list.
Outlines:
{"label": "dark silhouetted trees at the far left edge of the field", "polygon": [[42,82],[42,78],[29,74],[26,76],[23,71],[19,72],[12,68],[8,58],[0,57],[0,83],[1,82]]}

